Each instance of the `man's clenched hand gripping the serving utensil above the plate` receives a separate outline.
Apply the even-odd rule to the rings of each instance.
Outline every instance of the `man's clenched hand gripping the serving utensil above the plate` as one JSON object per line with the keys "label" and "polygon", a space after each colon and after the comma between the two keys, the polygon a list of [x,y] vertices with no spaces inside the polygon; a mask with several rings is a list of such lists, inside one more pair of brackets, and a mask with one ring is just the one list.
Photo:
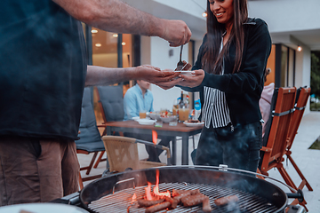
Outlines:
{"label": "man's clenched hand gripping the serving utensil above the plate", "polygon": [[164,20],[164,35],[160,36],[176,47],[190,41],[191,31],[187,24],[182,20]]}

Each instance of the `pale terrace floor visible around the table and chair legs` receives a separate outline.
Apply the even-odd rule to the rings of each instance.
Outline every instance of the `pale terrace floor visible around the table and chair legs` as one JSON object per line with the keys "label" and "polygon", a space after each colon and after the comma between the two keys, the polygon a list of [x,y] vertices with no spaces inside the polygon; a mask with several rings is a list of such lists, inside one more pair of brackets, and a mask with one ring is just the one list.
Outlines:
{"label": "pale terrace floor visible around the table and chair legs", "polygon": [[[313,187],[313,192],[308,191],[308,188],[305,186],[303,188],[303,193],[305,200],[308,202],[307,208],[309,212],[319,212],[320,208],[320,150],[308,149],[316,138],[320,136],[320,112],[310,112],[305,114],[300,123],[300,128],[298,130],[298,134],[294,139],[292,145],[292,158],[299,166],[303,175],[307,178],[308,183]],[[199,135],[195,137],[195,141],[197,142]],[[177,165],[181,164],[181,144],[178,143],[178,156],[177,156]],[[197,143],[196,143],[197,144]],[[189,139],[189,153],[193,150],[192,139]],[[148,154],[145,151],[144,146],[139,146],[140,157],[142,159],[148,158]],[[189,155],[190,156],[190,155]],[[91,161],[92,154],[78,154],[80,165],[88,165]],[[160,156],[160,160],[165,162],[165,155],[162,154]],[[191,158],[189,157],[189,164],[192,164]],[[288,161],[284,161],[284,168],[289,173],[290,177],[292,177],[295,185],[300,185],[300,177],[297,172],[294,170],[292,164]],[[106,162],[100,162],[97,169],[92,169],[90,176],[101,174],[106,169]],[[87,177],[85,171],[82,171],[83,177]],[[281,177],[280,173],[277,170],[270,170],[269,177],[274,177],[277,180],[280,180],[284,183],[284,179]],[[275,181],[268,180],[275,185],[278,185],[284,193],[290,193],[290,190]],[[89,181],[85,182],[84,185],[88,184]],[[289,203],[292,200],[289,200]]]}

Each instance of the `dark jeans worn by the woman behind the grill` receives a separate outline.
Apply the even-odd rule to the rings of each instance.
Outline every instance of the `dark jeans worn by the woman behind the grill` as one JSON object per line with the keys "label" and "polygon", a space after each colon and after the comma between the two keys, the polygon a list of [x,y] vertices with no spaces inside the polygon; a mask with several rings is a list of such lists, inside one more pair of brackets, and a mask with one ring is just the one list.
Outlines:
{"label": "dark jeans worn by the woman behind the grill", "polygon": [[197,165],[219,166],[257,171],[262,145],[260,122],[205,128],[201,132],[196,151]]}

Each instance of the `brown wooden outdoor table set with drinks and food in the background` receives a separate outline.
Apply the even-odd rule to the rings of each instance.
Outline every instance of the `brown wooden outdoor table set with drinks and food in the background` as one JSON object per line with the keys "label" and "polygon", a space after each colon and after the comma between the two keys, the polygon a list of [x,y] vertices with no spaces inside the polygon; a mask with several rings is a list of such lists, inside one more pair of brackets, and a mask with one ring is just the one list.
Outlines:
{"label": "brown wooden outdoor table set with drinks and food in the background", "polygon": [[[178,122],[177,126],[170,126],[168,123],[163,123],[162,127],[155,127],[154,125],[140,125],[136,121],[122,121],[122,122],[105,122],[103,125],[107,128],[107,135],[111,135],[113,131],[152,134],[152,130],[156,130],[158,136],[172,136],[182,138],[182,165],[188,165],[188,138],[201,132],[204,125],[186,126],[182,122]],[[172,164],[176,164],[177,157],[177,143],[172,141]]]}

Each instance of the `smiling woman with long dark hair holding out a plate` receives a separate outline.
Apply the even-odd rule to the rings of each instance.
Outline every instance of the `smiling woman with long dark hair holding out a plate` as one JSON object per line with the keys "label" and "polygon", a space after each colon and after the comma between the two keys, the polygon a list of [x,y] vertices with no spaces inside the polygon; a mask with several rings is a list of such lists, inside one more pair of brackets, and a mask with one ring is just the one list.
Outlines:
{"label": "smiling woman with long dark hair holding out a plate", "polygon": [[256,171],[260,160],[260,94],[271,51],[267,24],[248,18],[246,0],[209,0],[207,34],[185,91],[200,91],[204,121],[196,164]]}

